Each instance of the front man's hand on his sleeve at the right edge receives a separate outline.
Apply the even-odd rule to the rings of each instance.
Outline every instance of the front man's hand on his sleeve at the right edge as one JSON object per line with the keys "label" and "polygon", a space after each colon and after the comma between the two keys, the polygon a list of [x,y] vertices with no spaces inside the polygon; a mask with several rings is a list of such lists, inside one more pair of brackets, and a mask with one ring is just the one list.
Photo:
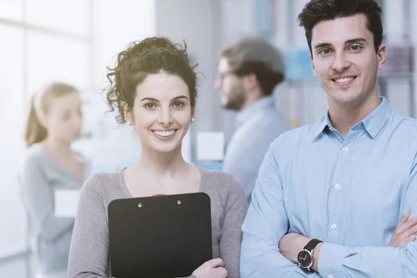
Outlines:
{"label": "front man's hand on his sleeve at the right edge", "polygon": [[405,244],[416,240],[417,217],[409,220],[410,215],[411,212],[408,212],[402,216],[395,228],[393,236],[391,236],[388,246],[403,247]]}

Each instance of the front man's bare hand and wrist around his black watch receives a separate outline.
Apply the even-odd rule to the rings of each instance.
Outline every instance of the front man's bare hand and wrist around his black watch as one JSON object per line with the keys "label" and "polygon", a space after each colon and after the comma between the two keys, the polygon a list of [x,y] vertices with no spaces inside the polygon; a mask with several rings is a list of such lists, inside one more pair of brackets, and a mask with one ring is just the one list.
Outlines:
{"label": "front man's bare hand and wrist around his black watch", "polygon": [[[292,261],[293,263],[298,263],[298,253],[302,250],[304,246],[309,243],[311,238],[307,238],[306,236],[302,236],[300,234],[286,234],[279,240],[279,252],[281,252],[282,256],[284,256],[288,261]],[[320,252],[320,248],[322,247],[323,243],[318,243],[313,251],[313,265],[311,265],[311,269],[314,271],[318,271],[318,254]]]}

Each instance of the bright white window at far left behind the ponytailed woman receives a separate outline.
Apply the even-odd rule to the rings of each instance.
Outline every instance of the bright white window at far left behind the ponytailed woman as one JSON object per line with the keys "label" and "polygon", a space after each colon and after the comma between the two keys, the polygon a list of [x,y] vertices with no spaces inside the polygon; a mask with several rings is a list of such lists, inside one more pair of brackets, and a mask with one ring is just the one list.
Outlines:
{"label": "bright white window at far left behind the ponytailed woman", "polygon": [[26,150],[29,97],[51,81],[80,90],[92,84],[90,5],[90,0],[0,1],[0,258],[28,248],[17,174]]}

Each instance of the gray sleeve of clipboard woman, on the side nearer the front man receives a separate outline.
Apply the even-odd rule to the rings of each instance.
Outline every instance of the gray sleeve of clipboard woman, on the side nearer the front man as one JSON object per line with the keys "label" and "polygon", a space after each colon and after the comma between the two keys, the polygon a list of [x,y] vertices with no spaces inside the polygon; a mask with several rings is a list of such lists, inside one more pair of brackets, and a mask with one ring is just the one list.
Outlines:
{"label": "gray sleeve of clipboard woman, on the side nearer the front man", "polygon": [[224,206],[222,237],[220,238],[220,258],[227,269],[227,277],[240,277],[240,245],[242,243],[242,224],[247,211],[247,200],[240,183],[231,178],[227,187]]}

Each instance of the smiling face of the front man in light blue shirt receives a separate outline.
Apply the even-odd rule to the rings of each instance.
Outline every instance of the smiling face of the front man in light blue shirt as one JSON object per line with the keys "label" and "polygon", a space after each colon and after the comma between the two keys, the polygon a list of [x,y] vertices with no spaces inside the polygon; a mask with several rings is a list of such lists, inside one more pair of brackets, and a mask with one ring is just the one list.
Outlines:
{"label": "smiling face of the front man in light blue shirt", "polygon": [[363,14],[323,21],[313,27],[311,67],[330,104],[363,104],[377,94],[377,71],[386,49],[375,53]]}

